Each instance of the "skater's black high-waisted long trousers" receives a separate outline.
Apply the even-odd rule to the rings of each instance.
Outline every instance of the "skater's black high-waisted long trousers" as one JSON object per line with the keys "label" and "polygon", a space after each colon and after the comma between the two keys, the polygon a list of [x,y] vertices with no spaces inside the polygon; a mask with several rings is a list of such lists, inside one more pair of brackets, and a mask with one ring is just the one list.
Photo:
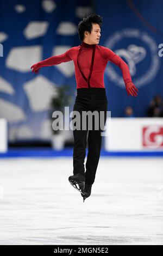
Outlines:
{"label": "skater's black high-waisted long trousers", "polygon": [[[80,113],[80,125],[82,126],[83,111],[103,111],[104,123],[106,121],[106,111],[108,100],[105,94],[105,88],[80,88],[77,89],[76,101],[73,111]],[[73,112],[74,113],[74,112]],[[74,117],[72,118],[74,119]],[[85,175],[86,184],[93,184],[95,181],[96,170],[98,166],[101,151],[101,126],[95,130],[95,119],[93,118],[93,129],[90,130],[88,123],[86,130],[73,130],[74,147],[73,147],[73,174]],[[97,129],[97,128],[96,128]],[[88,136],[87,136],[88,133]],[[86,142],[88,144],[88,154],[86,161],[86,172],[84,168],[84,160],[86,154]]]}

